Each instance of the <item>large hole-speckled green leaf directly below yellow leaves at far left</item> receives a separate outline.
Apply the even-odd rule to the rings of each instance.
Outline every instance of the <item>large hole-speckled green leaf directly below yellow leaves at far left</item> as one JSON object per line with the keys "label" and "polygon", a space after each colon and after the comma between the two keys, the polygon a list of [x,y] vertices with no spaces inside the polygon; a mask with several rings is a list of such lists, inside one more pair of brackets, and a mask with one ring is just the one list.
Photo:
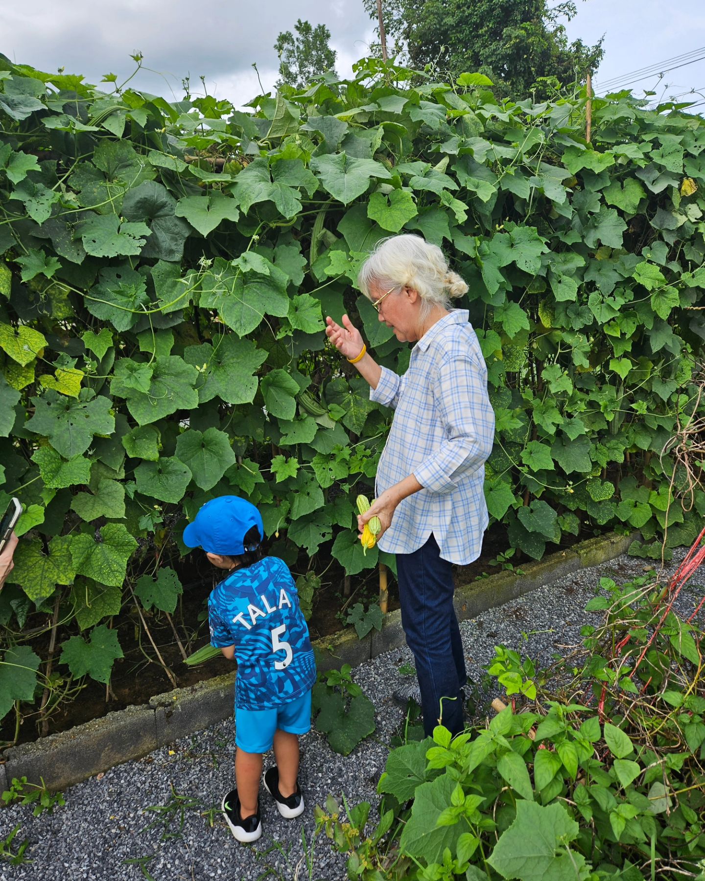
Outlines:
{"label": "large hole-speckled green leaf directly below yellow leaves at far left", "polygon": [[34,415],[26,422],[26,428],[48,438],[49,443],[64,459],[72,459],[85,453],[94,434],[112,434],[115,417],[111,415],[111,403],[107,397],[78,401],[56,391],[48,390],[42,397],[33,397]]}

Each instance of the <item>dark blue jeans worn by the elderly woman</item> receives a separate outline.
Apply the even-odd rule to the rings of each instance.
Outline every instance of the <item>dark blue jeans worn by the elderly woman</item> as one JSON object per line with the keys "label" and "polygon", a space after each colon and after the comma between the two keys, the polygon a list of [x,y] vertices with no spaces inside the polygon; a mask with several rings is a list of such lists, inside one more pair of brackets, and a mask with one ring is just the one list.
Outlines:
{"label": "dark blue jeans worn by the elderly woman", "polygon": [[[406,644],[421,691],[424,731],[463,730],[460,689],[467,681],[463,642],[453,607],[453,564],[441,559],[433,535],[418,551],[397,553],[397,580]],[[451,699],[456,700],[442,700]]]}

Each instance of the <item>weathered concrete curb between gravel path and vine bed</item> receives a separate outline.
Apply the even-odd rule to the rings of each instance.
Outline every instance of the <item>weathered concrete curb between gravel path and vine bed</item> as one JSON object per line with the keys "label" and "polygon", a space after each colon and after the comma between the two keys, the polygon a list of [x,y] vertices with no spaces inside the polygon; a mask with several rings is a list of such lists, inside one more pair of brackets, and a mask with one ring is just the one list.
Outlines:
{"label": "weathered concrete curb between gravel path and vine bed", "polygon": [[[587,566],[597,566],[627,551],[636,535],[608,533],[575,544],[538,563],[522,566],[523,574],[501,572],[456,589],[460,620],[509,603],[541,585],[550,584]],[[381,631],[359,640],[352,627],[315,640],[323,669],[352,667],[404,645],[400,611],[390,612]],[[42,737],[4,752],[0,759],[0,791],[14,777],[25,776],[49,789],[64,789],[130,759],[140,759],[160,746],[221,722],[233,712],[234,673],[206,679],[188,688],[158,694],[141,707],[127,707],[69,731]],[[2,763],[4,762],[4,764]]]}

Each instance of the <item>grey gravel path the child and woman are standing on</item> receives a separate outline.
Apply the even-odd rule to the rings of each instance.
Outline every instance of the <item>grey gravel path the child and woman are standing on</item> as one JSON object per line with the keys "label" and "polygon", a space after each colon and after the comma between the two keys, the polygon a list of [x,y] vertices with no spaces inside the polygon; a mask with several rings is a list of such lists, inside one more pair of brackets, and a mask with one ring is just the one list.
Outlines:
{"label": "grey gravel path the child and woman are standing on", "polygon": [[[672,572],[684,553],[674,552],[674,562],[665,574]],[[553,663],[555,655],[567,654],[565,647],[579,643],[581,626],[599,620],[597,614],[584,611],[585,603],[594,596],[599,576],[623,583],[643,574],[644,562],[625,555],[464,621],[460,628],[471,679],[481,681],[482,665],[494,656],[494,646],[502,643],[530,656],[539,666]],[[696,574],[693,581],[705,583],[705,572]],[[694,596],[702,593],[703,589],[684,591],[680,611],[692,611]],[[210,815],[212,824],[208,822],[208,809],[219,808],[222,794],[233,785],[234,724],[227,720],[152,752],[145,759],[117,766],[101,774],[100,779],[93,777],[72,787],[64,794],[65,806],[51,815],[33,818],[28,806],[0,810],[0,840],[21,824],[13,849],[22,840],[29,840],[26,856],[33,860],[18,867],[0,862],[0,881],[132,881],[150,875],[154,881],[343,881],[345,858],[330,848],[325,837],[315,842],[309,872],[301,862],[301,829],[310,844],[315,825],[313,808],[323,804],[329,793],[345,793],[351,804],[369,801],[376,807],[376,783],[390,751],[390,738],[404,716],[390,700],[390,692],[397,685],[396,670],[411,660],[408,649],[400,648],[353,671],[353,677],[375,704],[375,734],[347,758],[332,752],[316,731],[303,737],[300,781],[307,810],[297,820],[280,818],[262,789],[263,837],[253,848],[234,840],[218,810]],[[265,757],[265,767],[270,763],[271,756]],[[161,840],[164,826],[146,828],[160,815],[145,809],[166,805],[172,786],[180,796],[197,799],[199,806],[184,811],[181,834]],[[166,832],[178,833],[179,818],[170,816]],[[140,857],[149,858],[144,862],[149,875],[143,874],[139,864],[124,862]]]}

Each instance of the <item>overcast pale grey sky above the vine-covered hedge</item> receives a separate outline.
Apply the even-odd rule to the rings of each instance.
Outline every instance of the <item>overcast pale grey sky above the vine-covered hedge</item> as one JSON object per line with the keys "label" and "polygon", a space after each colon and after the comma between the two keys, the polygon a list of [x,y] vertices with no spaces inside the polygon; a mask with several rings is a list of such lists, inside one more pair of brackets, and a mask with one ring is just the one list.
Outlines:
{"label": "overcast pale grey sky above the vine-covered hedge", "polygon": [[[669,67],[662,63],[705,47],[702,0],[578,0],[577,5],[578,15],[567,25],[570,39],[594,43],[605,34],[598,93],[605,91],[602,82],[609,85],[647,66]],[[274,84],[274,42],[280,31],[293,30],[297,18],[328,26],[331,46],[338,52],[338,73],[344,76],[374,40],[373,23],[361,0],[0,0],[0,51],[43,70],[63,66],[98,83],[108,72],[128,77],[133,69],[130,53],[138,49],[145,65],[158,72],[141,72],[134,81],[137,87],[180,99],[182,77],[189,74],[200,87],[203,74],[211,93],[241,105],[259,93],[253,62],[264,88]],[[700,55],[705,56],[705,49],[691,57]],[[651,74],[625,82],[640,95],[646,88],[657,88],[659,97],[696,90],[705,100],[705,58],[660,80]]]}

